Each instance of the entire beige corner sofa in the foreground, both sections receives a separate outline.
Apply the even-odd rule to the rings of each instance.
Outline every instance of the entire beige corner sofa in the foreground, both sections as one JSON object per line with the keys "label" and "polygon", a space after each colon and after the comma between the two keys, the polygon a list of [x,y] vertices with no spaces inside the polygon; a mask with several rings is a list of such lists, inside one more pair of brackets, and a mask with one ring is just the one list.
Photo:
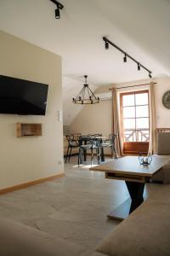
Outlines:
{"label": "entire beige corner sofa in the foreground, both sections", "polygon": [[8,219],[0,219],[2,256],[169,256],[170,185],[118,224],[104,241],[89,252],[55,236]]}

